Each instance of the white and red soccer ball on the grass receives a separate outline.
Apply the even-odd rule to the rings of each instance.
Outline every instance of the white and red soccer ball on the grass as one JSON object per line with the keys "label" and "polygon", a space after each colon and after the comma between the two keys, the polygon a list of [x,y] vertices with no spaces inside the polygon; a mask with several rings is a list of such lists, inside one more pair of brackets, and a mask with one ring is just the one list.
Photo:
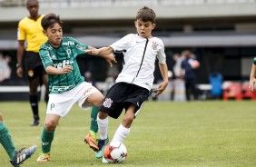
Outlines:
{"label": "white and red soccer ball on the grass", "polygon": [[122,142],[109,142],[103,152],[103,156],[107,162],[120,163],[127,156],[127,149]]}

